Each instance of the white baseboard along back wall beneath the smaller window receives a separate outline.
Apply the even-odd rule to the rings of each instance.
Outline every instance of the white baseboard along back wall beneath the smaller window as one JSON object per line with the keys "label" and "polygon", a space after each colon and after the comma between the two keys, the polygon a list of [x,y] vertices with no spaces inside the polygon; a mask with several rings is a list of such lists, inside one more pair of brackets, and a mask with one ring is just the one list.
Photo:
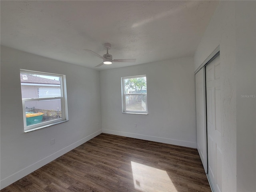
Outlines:
{"label": "white baseboard along back wall beneath the smaller window", "polygon": [[143,140],[148,140],[148,141],[154,141],[154,142],[160,142],[160,143],[166,143],[166,144],[172,144],[172,145],[178,145],[178,146],[184,146],[184,147],[190,147],[190,148],[196,148],[196,146],[197,146],[196,142],[189,142],[189,141],[175,140],[175,139],[162,138],[162,137],[156,137],[156,136],[127,133],[127,132],[108,130],[108,129],[102,129],[102,133],[131,137],[131,138],[136,138],[136,139],[143,139]]}

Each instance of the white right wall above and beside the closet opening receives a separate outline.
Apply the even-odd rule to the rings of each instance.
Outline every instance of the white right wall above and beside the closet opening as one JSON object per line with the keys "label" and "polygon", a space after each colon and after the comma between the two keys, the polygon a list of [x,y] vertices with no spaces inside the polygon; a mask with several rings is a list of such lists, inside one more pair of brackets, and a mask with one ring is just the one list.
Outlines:
{"label": "white right wall above and beside the closet opening", "polygon": [[220,45],[222,190],[256,191],[255,1],[220,1],[194,55],[194,70]]}

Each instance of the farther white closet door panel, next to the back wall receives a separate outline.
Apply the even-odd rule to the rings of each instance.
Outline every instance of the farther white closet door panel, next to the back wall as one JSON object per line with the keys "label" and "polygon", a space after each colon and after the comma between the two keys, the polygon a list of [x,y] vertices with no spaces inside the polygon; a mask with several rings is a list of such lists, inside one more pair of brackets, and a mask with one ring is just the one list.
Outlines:
{"label": "farther white closet door panel, next to the back wall", "polygon": [[197,150],[207,173],[206,151],[206,98],[205,98],[205,72],[204,67],[196,73],[196,138]]}

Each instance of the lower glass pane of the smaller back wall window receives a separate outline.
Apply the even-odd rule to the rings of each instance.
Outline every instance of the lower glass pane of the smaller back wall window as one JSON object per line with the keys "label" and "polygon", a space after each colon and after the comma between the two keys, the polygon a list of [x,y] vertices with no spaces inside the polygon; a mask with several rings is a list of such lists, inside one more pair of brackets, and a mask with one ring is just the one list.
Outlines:
{"label": "lower glass pane of the smaller back wall window", "polygon": [[146,111],[146,94],[125,95],[126,110]]}

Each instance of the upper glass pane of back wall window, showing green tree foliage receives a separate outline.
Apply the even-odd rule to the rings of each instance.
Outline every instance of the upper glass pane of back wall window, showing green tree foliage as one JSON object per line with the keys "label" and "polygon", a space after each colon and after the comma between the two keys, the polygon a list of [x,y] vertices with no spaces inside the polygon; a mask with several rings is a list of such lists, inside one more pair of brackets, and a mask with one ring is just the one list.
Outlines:
{"label": "upper glass pane of back wall window, showing green tree foliage", "polygon": [[125,94],[147,93],[146,77],[124,79],[124,93]]}

